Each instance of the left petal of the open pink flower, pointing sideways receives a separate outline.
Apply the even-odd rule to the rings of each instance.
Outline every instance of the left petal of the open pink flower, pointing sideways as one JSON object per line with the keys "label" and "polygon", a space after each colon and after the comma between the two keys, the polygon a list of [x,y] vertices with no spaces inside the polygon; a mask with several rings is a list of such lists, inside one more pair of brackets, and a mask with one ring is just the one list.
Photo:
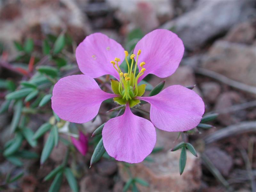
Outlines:
{"label": "left petal of the open pink flower, pointing sideways", "polygon": [[52,109],[61,119],[85,123],[98,114],[102,101],[115,96],[102,91],[90,76],[67,76],[54,85]]}

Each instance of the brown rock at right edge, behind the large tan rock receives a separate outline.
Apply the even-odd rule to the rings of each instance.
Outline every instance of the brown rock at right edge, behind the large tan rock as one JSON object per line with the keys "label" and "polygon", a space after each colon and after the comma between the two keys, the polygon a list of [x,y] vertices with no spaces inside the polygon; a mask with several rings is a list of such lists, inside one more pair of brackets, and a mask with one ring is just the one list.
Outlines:
{"label": "brown rock at right edge, behind the large tan rock", "polygon": [[252,44],[255,37],[256,20],[253,20],[235,25],[224,39],[234,43]]}

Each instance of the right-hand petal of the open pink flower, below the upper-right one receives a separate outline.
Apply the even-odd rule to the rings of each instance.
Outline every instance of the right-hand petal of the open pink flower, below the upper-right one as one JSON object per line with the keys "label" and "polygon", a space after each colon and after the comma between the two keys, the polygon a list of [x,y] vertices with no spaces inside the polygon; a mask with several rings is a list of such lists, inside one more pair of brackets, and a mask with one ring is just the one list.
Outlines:
{"label": "right-hand petal of the open pink flower, below the upper-right one", "polygon": [[151,104],[150,120],[159,129],[170,132],[195,128],[204,114],[204,102],[196,92],[172,85],[152,97],[138,97]]}

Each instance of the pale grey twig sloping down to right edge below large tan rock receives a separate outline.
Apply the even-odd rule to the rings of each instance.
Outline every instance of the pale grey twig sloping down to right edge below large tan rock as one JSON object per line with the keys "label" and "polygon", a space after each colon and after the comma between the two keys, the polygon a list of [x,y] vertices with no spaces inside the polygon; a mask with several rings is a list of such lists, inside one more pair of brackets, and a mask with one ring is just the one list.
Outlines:
{"label": "pale grey twig sloping down to right edge below large tan rock", "polygon": [[197,74],[204,75],[204,76],[209,76],[213,79],[216,79],[216,80],[218,80],[222,83],[225,83],[225,84],[227,84],[231,87],[234,87],[236,89],[240,89],[240,90],[243,90],[245,92],[256,94],[256,87],[254,87],[254,86],[250,86],[250,85],[247,85],[247,84],[240,83],[238,81],[234,81],[232,79],[229,79],[226,76],[220,75],[219,73],[216,73],[216,72],[208,70],[208,69],[195,67],[194,70],[195,70],[195,73],[197,73]]}

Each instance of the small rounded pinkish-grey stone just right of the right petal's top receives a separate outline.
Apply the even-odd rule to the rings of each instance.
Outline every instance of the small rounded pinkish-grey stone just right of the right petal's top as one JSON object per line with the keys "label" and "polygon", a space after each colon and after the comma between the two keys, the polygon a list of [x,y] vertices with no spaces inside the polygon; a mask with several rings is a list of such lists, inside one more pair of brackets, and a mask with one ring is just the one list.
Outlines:
{"label": "small rounded pinkish-grey stone just right of the right petal's top", "polygon": [[204,99],[210,103],[214,103],[220,94],[220,85],[215,82],[205,82],[201,84]]}

